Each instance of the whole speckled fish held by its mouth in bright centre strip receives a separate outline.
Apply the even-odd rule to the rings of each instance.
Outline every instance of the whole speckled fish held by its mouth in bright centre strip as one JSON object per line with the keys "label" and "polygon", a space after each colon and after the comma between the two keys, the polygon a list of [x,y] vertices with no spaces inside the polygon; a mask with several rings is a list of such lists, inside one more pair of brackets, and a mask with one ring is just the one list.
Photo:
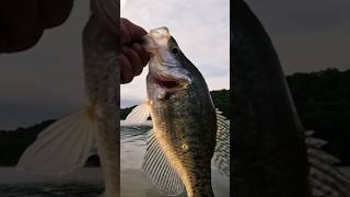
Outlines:
{"label": "whole speckled fish held by its mouth in bright centre strip", "polygon": [[141,170],[164,195],[185,188],[188,197],[213,197],[212,161],[229,176],[229,120],[214,107],[206,80],[167,27],[151,30],[143,47],[151,54],[147,101],[126,118],[152,119]]}

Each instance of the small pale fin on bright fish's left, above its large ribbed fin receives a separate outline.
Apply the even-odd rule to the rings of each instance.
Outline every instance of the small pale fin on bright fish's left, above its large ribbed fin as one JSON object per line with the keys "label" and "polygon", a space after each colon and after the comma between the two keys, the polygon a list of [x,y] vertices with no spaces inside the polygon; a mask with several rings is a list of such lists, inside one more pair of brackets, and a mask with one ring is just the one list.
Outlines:
{"label": "small pale fin on bright fish's left, above its large ribbed fin", "polygon": [[130,114],[126,117],[125,121],[128,123],[144,123],[151,115],[148,102],[143,102],[136,106]]}

